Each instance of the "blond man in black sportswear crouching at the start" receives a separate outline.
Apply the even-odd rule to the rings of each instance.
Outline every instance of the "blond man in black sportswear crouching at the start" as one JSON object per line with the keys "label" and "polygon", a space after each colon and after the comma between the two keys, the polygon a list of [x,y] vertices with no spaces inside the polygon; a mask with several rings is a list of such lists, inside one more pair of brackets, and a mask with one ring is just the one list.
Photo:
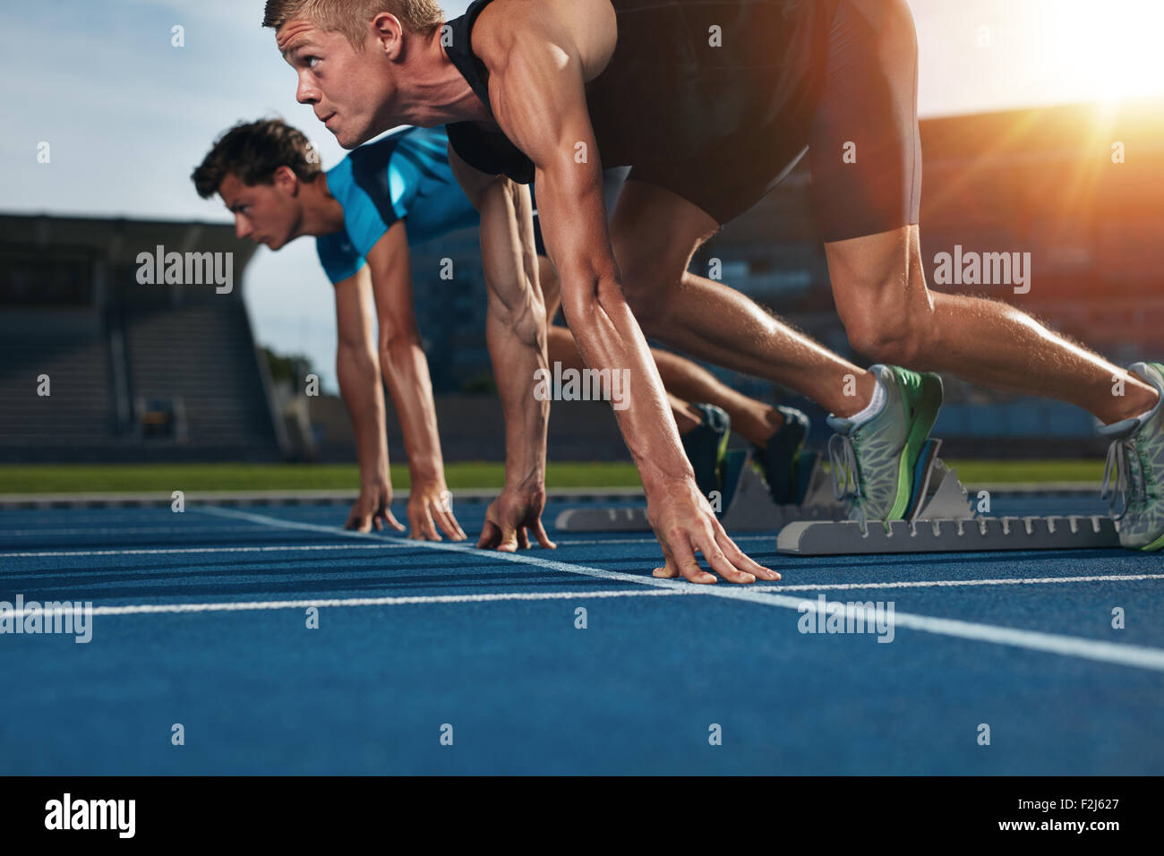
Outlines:
{"label": "blond man in black sportswear crouching at the start", "polygon": [[[1164,545],[1164,366],[1124,372],[1014,307],[925,286],[917,45],[904,0],[476,0],[448,24],[425,0],[268,0],[264,24],[298,75],[298,99],[341,144],[402,121],[449,123],[462,186],[498,200],[487,219],[521,213],[498,176],[537,179],[579,347],[592,366],[630,368],[637,384],[619,420],[666,557],[656,573],[710,582],[701,551],[732,581],[775,576],[698,496],[630,306],[652,335],[832,410],[856,515],[900,517],[914,489],[913,464],[941,405],[937,375],[863,370],[686,270],[695,248],[805,150],[857,349],[1087,408],[1107,423],[1112,467],[1130,487],[1122,542]],[[608,232],[601,170],[620,164],[632,170]],[[524,238],[518,226],[482,228]],[[520,313],[506,320],[503,401],[520,447],[510,450],[499,531],[539,508],[545,433],[526,380],[544,359],[540,331]]]}

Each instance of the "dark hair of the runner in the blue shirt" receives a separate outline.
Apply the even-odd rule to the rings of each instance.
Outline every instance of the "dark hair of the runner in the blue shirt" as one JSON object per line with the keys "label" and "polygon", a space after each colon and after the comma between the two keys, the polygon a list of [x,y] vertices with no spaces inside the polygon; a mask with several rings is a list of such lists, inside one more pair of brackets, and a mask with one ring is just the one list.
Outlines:
{"label": "dark hair of the runner in the blue shirt", "polygon": [[314,153],[303,132],[282,119],[239,122],[214,142],[190,179],[203,199],[214,196],[232,172],[243,184],[271,184],[275,170],[289,167],[299,181],[313,182],[321,172]]}

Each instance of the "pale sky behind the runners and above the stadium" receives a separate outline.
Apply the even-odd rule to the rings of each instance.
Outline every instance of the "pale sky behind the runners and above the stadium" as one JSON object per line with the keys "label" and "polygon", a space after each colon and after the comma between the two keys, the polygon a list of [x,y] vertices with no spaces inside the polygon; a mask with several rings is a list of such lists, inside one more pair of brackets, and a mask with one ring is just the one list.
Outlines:
{"label": "pale sky behind the runners and above the stadium", "polygon": [[[230,222],[190,171],[240,119],[281,115],[345,151],[294,100],[263,0],[5,0],[0,211]],[[466,0],[447,0],[448,17]],[[922,116],[1159,95],[1164,0],[909,0]],[[172,28],[184,45],[172,45]],[[1164,101],[1162,101],[1164,102]],[[37,163],[37,146],[51,160]],[[334,388],[332,290],[300,239],[261,247],[243,292],[256,337]]]}

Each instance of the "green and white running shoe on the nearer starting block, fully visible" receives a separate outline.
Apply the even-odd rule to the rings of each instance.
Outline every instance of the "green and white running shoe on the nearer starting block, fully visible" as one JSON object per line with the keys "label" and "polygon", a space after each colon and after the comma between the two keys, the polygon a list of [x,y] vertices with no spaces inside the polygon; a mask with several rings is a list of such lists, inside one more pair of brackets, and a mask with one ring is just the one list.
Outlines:
{"label": "green and white running shoe on the nearer starting block, fully visible", "polygon": [[942,409],[942,379],[896,366],[870,367],[886,394],[885,406],[868,422],[830,416],[833,493],[851,498],[850,519],[899,521],[917,501],[915,473],[927,438]]}

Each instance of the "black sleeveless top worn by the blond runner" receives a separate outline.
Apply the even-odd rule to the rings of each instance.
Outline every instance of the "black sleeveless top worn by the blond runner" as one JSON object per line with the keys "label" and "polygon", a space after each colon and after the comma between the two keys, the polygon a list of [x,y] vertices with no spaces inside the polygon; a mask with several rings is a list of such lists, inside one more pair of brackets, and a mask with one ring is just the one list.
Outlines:
{"label": "black sleeveless top worn by the blond runner", "polygon": [[[473,54],[475,0],[448,22],[448,58],[492,114],[485,69]],[[602,167],[690,162],[760,128],[810,120],[829,24],[840,0],[611,0],[618,44],[587,84]],[[816,72],[814,73],[814,66]],[[467,163],[516,182],[533,163],[499,130],[447,127]]]}

